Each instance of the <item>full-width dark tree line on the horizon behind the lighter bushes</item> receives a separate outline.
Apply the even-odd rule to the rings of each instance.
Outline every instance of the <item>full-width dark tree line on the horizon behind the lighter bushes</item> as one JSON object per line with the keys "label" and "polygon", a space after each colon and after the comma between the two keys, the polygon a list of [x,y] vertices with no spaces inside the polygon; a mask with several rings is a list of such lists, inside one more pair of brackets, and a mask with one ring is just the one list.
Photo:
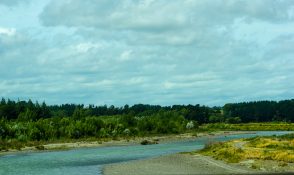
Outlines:
{"label": "full-width dark tree line on the horizon behind the lighter bushes", "polygon": [[85,117],[133,115],[151,116],[160,112],[176,112],[187,120],[203,123],[247,123],[269,121],[294,121],[294,99],[282,101],[253,101],[228,103],[222,107],[196,105],[160,106],[149,104],[125,105],[123,107],[83,104],[46,105],[28,101],[13,101],[2,98],[0,119],[8,121],[37,121],[47,118],[69,117],[79,120]]}

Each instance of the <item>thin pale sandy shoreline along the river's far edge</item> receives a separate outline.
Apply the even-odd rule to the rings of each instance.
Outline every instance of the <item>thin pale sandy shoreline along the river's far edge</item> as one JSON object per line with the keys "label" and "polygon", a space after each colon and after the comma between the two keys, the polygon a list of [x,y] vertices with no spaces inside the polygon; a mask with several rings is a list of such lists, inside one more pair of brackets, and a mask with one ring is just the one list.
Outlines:
{"label": "thin pale sandy shoreline along the river's far edge", "polygon": [[37,153],[37,152],[50,152],[50,151],[65,151],[79,148],[95,148],[95,147],[108,147],[108,146],[129,146],[129,145],[140,145],[143,140],[156,141],[159,144],[195,140],[205,136],[220,136],[220,135],[234,135],[234,134],[246,134],[254,133],[254,131],[214,131],[214,132],[200,132],[195,133],[183,133],[173,135],[158,135],[158,136],[146,136],[146,137],[134,137],[134,138],[122,138],[119,140],[109,141],[77,141],[67,143],[48,143],[42,144],[41,149],[36,146],[24,147],[21,150],[10,149],[8,151],[0,151],[0,156],[21,154],[21,153]]}

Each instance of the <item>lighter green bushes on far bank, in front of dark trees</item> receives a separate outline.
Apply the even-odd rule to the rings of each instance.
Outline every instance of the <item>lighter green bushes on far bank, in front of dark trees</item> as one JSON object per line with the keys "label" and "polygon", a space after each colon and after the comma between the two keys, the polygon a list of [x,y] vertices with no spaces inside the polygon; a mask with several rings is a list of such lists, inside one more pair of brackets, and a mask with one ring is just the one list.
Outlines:
{"label": "lighter green bushes on far bank, in front of dark trees", "polygon": [[[55,117],[29,120],[0,120],[1,149],[19,149],[32,142],[55,142],[87,138],[134,137],[185,132],[186,119],[176,112],[160,112],[146,117],[129,115]],[[14,143],[14,144],[11,144]],[[38,148],[39,149],[39,148]]]}

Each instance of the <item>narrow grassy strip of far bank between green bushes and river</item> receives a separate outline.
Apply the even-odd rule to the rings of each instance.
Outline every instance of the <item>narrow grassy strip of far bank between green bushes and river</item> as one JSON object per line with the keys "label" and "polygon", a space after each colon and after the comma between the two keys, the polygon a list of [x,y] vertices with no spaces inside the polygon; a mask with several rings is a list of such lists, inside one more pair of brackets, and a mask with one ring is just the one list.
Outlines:
{"label": "narrow grassy strip of far bank between green bushes and river", "polygon": [[[215,134],[223,134],[217,132]],[[205,136],[208,133],[201,133],[199,136]],[[149,143],[166,143],[180,140],[195,139],[197,136],[194,132],[183,134],[150,134],[148,136],[138,137],[115,137],[115,138],[83,138],[83,139],[59,139],[54,141],[27,141],[19,142],[17,140],[0,141],[0,156],[15,152],[31,151],[50,151],[50,150],[67,150],[81,147],[101,147],[115,145],[134,145],[142,144],[143,141]]]}

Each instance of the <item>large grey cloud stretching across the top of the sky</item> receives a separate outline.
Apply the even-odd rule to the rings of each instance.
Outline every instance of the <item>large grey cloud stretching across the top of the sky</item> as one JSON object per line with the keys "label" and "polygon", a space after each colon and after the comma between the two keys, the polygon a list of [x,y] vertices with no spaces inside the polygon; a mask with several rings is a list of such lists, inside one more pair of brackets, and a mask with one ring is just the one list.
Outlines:
{"label": "large grey cloud stretching across the top of the sky", "polygon": [[[220,25],[236,18],[272,22],[291,20],[292,1],[269,0],[158,0],[110,2],[53,0],[41,19],[46,25],[104,26],[108,28],[171,30],[189,24]],[[63,15],[64,18],[56,18]],[[125,20],[128,19],[128,20]],[[203,27],[203,26],[202,26]]]}

